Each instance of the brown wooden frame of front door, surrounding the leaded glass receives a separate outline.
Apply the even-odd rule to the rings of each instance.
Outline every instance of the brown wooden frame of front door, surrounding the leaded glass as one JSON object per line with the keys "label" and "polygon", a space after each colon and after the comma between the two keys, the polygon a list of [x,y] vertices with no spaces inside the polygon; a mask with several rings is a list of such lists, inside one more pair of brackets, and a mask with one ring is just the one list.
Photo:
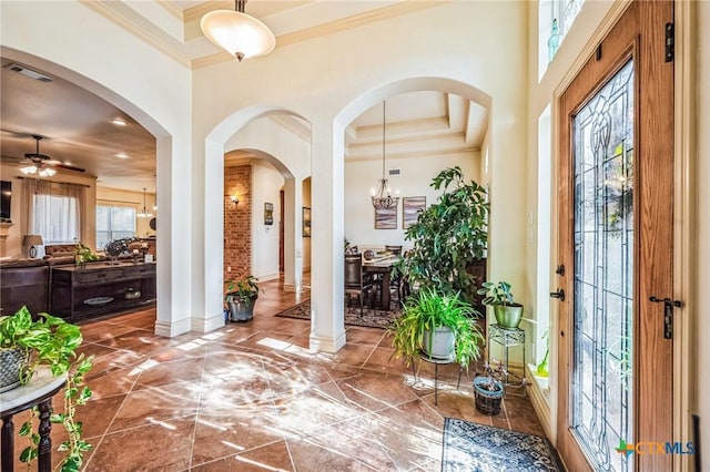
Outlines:
{"label": "brown wooden frame of front door, surrounding the leaded glass", "polygon": [[[659,66],[656,64],[649,65],[651,61],[650,57],[655,54],[663,53],[663,25],[667,21],[672,21],[672,3],[667,2],[665,7],[655,8],[643,2],[633,2],[621,14],[621,17],[615,22],[611,30],[605,34],[600,47],[598,48],[598,54],[595,54],[589,59],[581,68],[579,73],[574,79],[572,83],[568,85],[567,90],[561,94],[559,100],[560,113],[557,130],[559,130],[558,141],[558,184],[559,184],[559,203],[558,208],[566,209],[571,207],[574,202],[574,185],[572,174],[570,171],[571,158],[569,155],[569,147],[571,143],[571,121],[570,117],[584,105],[587,98],[594,95],[607,80],[618,69],[626,63],[626,61],[633,55],[635,69],[636,69],[636,84],[639,84],[641,78],[643,78],[643,90],[638,86],[635,88],[636,93],[636,123],[635,123],[635,178],[637,182],[642,182],[645,174],[658,173],[660,176],[667,176],[673,181],[673,93],[660,93],[662,86],[668,86],[666,82],[655,81],[649,75],[649,68],[655,66],[653,73],[660,74],[663,81],[670,80],[672,83],[673,78],[673,64],[669,63],[666,66]],[[628,25],[630,21],[636,21],[638,27],[632,29],[632,32],[628,32],[628,27],[623,28],[620,24],[623,22]],[[619,27],[619,28],[617,28]],[[639,40],[636,31],[641,31],[642,35]],[[643,47],[641,47],[641,44]],[[646,45],[648,44],[648,48]],[[609,58],[605,60],[606,58]],[[663,98],[662,106],[668,111],[667,120],[643,120],[645,117],[652,116],[650,112],[657,107],[657,101]],[[643,115],[646,112],[646,115]],[[663,144],[657,145],[655,140],[653,146],[648,146],[645,142],[641,142],[645,136],[661,136],[660,141]],[[660,147],[660,148],[659,148]],[[657,158],[651,158],[656,156]],[[660,215],[661,220],[672,222],[673,211],[673,187],[670,186],[670,193],[659,194],[658,188],[653,188],[653,192],[648,189],[648,186],[637,185],[640,189],[640,194],[637,192],[635,199],[635,260],[640,261],[641,257],[656,257],[655,261],[660,261],[661,269],[655,266],[653,273],[647,271],[646,265],[635,263],[635,280],[637,281],[635,287],[635,324],[636,324],[636,339],[635,339],[635,397],[638,399],[635,404],[635,431],[637,437],[635,441],[671,441],[673,432],[673,387],[672,387],[672,370],[673,370],[673,342],[669,341],[663,343],[661,337],[658,339],[658,334],[662,332],[662,311],[659,314],[657,306],[651,306],[648,302],[648,298],[651,295],[659,297],[671,297],[673,290],[672,277],[668,277],[668,274],[673,274],[672,257],[670,260],[666,258],[666,265],[663,260],[659,258],[658,254],[661,250],[668,252],[670,248],[672,254],[673,248],[673,230],[672,225],[670,230],[660,230],[662,234],[661,240],[651,239],[646,237],[646,228],[649,225],[655,224],[653,220],[658,219],[658,216],[651,218],[649,214]],[[558,212],[561,215],[561,212]],[[562,237],[562,232],[566,235],[572,234],[574,213],[570,211],[565,215],[565,219],[558,216],[558,254],[559,264],[565,264],[569,268],[567,276],[560,281],[559,286],[568,294],[568,298],[564,301],[564,306],[560,305],[559,309],[559,322],[558,322],[558,346],[559,346],[559,367],[558,367],[558,414],[557,414],[557,444],[560,448],[560,453],[568,461],[567,466],[570,470],[588,470],[589,464],[584,456],[579,455],[576,448],[575,451],[570,450],[568,444],[571,443],[571,437],[560,441],[561,437],[570,435],[570,431],[567,429],[568,417],[570,411],[570,394],[569,384],[571,378],[571,353],[574,342],[574,319],[571,310],[574,309],[574,245],[572,239],[567,236]],[[658,233],[659,229],[657,228]],[[663,249],[666,248],[666,249]],[[661,308],[662,309],[662,308]],[[645,319],[643,324],[639,324],[639,319]],[[567,337],[566,337],[567,335]],[[660,349],[662,355],[661,365],[653,363],[651,367],[649,362],[640,362],[639,358],[646,352],[657,351]],[[658,356],[657,356],[658,357]],[[670,372],[668,378],[665,379],[665,393],[659,398],[649,398],[643,394],[649,389],[657,388],[658,378],[653,376],[653,371],[660,368],[660,370]],[[561,407],[561,408],[560,408]],[[657,411],[656,415],[639,414],[639,411]],[[660,417],[660,421],[659,418]],[[662,438],[658,437],[658,431],[663,430]],[[672,459],[666,455],[639,455],[637,458],[637,468],[639,470],[668,470],[671,465]]]}

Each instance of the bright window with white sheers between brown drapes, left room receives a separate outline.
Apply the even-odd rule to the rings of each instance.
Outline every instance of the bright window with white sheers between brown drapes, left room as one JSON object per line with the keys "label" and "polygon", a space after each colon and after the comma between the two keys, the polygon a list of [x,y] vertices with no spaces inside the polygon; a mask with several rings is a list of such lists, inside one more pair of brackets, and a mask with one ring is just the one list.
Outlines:
{"label": "bright window with white sheers between brown drapes, left room", "polygon": [[80,239],[79,199],[73,196],[38,194],[33,196],[33,233],[44,244],[72,244]]}

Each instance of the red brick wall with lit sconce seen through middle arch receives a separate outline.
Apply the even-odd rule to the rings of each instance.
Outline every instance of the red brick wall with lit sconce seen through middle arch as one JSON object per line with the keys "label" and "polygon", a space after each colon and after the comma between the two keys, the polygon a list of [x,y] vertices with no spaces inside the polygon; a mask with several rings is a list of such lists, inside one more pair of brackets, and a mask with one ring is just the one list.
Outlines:
{"label": "red brick wall with lit sconce seen through middle arch", "polygon": [[[251,164],[224,167],[225,279],[252,273],[252,175]],[[239,197],[237,205],[231,195]]]}

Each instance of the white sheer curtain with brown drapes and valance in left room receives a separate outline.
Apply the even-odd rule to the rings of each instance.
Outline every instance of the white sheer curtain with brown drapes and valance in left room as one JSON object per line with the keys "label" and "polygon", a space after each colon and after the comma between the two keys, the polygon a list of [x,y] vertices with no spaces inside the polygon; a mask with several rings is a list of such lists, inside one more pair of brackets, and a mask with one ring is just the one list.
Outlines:
{"label": "white sheer curtain with brown drapes and valance in left room", "polygon": [[81,238],[85,186],[26,179],[23,234],[41,235],[45,245],[71,244]]}

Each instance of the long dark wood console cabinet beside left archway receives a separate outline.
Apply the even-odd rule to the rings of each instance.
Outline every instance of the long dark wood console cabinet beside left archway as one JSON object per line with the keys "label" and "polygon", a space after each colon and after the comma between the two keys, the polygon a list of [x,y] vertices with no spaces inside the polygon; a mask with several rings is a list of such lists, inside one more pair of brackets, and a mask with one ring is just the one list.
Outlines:
{"label": "long dark wood console cabinet beside left archway", "polygon": [[155,263],[91,263],[51,269],[51,314],[71,322],[155,301]]}

